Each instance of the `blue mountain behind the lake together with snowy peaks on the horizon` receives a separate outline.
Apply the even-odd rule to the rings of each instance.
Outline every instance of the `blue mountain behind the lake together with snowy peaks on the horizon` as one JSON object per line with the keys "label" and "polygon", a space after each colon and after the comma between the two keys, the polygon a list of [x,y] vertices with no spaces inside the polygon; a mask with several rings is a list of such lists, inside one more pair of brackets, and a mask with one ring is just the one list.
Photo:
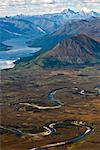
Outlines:
{"label": "blue mountain behind the lake together with snowy peaks on the horizon", "polygon": [[61,13],[54,14],[36,16],[17,15],[0,18],[0,34],[2,35],[0,41],[21,36],[28,40],[35,40],[52,34],[59,30],[59,28],[62,28],[64,24],[68,24],[68,22],[87,20],[90,17],[100,17],[100,13],[94,11],[86,13],[84,11],[78,12],[66,9]]}

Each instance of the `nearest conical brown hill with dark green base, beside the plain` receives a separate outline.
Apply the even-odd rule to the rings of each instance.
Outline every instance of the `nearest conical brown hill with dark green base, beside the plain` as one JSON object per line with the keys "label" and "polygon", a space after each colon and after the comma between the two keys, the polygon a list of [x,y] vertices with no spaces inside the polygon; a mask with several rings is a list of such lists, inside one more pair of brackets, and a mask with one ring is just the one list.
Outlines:
{"label": "nearest conical brown hill with dark green base, beside the plain", "polygon": [[49,68],[100,62],[100,42],[80,34],[59,42],[53,49],[35,59],[36,64]]}

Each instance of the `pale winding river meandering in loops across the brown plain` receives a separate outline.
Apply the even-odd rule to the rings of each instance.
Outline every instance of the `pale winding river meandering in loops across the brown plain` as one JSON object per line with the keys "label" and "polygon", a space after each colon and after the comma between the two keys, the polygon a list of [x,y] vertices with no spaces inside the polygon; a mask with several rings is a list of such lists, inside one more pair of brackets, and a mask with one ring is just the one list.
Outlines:
{"label": "pale winding river meandering in loops across the brown plain", "polygon": [[[59,90],[62,90],[66,87],[63,87],[63,88],[58,88],[58,89],[55,89],[55,90],[52,90],[48,93],[48,99],[53,101],[55,103],[55,106],[39,106],[39,105],[36,105],[36,104],[29,104],[29,103],[19,103],[20,105],[26,105],[26,106],[32,106],[33,108],[37,108],[37,109],[40,109],[40,110],[47,110],[47,109],[58,109],[58,108],[61,108],[64,104],[60,102],[60,100],[57,100],[54,98],[54,95],[56,94],[57,91]],[[53,143],[53,144],[47,144],[45,146],[41,146],[41,147],[34,147],[34,148],[31,148],[30,150],[40,150],[40,149],[47,149],[47,148],[50,148],[50,147],[56,147],[56,146],[63,146],[65,144],[69,144],[69,143],[75,143],[77,141],[80,141],[82,139],[84,139],[86,136],[90,135],[90,133],[93,131],[93,128],[92,126],[86,124],[85,122],[83,121],[78,121],[78,120],[71,120],[71,121],[68,121],[68,125],[63,126],[63,123],[64,121],[61,121],[61,122],[53,122],[53,123],[50,123],[48,125],[45,125],[43,126],[44,128],[44,132],[40,132],[40,133],[36,133],[36,134],[30,134],[30,133],[25,133],[25,132],[22,132],[20,129],[16,129],[16,128],[6,128],[6,127],[3,127],[3,126],[0,126],[1,129],[3,130],[7,130],[7,131],[10,131],[10,132],[13,132],[15,133],[16,135],[27,135],[27,136],[48,136],[48,135],[54,135],[57,131],[56,131],[56,126],[58,125],[60,128],[66,128],[67,126],[78,126],[78,127],[83,127],[85,128],[85,131],[78,135],[78,136],[75,136],[71,139],[67,139],[65,141],[61,141],[61,142],[57,142],[57,143]]]}

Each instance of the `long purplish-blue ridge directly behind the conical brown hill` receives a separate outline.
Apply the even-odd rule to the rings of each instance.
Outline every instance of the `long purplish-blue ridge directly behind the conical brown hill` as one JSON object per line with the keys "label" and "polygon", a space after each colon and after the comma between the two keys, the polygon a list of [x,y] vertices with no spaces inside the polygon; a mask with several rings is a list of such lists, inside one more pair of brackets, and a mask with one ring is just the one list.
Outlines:
{"label": "long purplish-blue ridge directly behind the conical brown hill", "polygon": [[39,46],[43,49],[51,49],[58,42],[74,35],[85,33],[100,39],[100,18],[91,17],[87,20],[71,20],[66,22],[52,34],[28,42],[30,47]]}

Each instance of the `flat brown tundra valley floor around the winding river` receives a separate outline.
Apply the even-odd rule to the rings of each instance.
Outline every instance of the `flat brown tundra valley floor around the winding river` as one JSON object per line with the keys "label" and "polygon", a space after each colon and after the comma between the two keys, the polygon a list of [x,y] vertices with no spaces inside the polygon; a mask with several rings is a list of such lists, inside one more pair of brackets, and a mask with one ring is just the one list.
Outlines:
{"label": "flat brown tundra valley floor around the winding river", "polygon": [[[0,120],[1,125],[19,129],[26,133],[43,132],[43,126],[50,122],[64,120],[82,120],[92,125],[93,132],[80,142],[48,150],[99,150],[100,149],[100,66],[77,69],[12,69],[1,72]],[[59,109],[38,110],[20,106],[19,103],[32,103],[41,106],[54,106],[48,99],[48,93],[62,88],[55,98],[64,105]],[[92,94],[80,94],[76,89],[86,90]],[[64,141],[84,132],[76,126],[58,128],[54,135],[31,136],[16,135],[10,131],[0,130],[2,150],[29,150],[33,147]]]}

